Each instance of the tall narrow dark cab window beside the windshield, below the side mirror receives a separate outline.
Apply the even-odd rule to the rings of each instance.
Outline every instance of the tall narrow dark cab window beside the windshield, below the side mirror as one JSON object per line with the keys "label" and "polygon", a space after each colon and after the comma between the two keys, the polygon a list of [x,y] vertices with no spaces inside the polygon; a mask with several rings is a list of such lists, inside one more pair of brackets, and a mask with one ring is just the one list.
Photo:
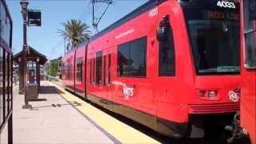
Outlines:
{"label": "tall narrow dark cab window beside the windshield, below the side mirror", "polygon": [[170,24],[167,24],[166,31],[166,41],[159,42],[159,76],[174,76],[174,37]]}

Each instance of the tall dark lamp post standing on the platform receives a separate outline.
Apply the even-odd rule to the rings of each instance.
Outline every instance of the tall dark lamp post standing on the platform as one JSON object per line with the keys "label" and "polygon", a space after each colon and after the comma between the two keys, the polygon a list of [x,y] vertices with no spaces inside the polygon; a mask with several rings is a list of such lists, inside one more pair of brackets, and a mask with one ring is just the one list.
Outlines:
{"label": "tall dark lamp post standing on the platform", "polygon": [[27,10],[27,6],[29,5],[28,0],[21,0],[20,2],[21,6],[22,6],[22,17],[23,17],[23,54],[22,54],[22,63],[23,63],[23,93],[24,93],[24,99],[25,99],[25,106],[23,106],[23,108],[29,108],[30,106],[28,105],[28,100],[26,98],[26,94],[25,94],[25,90],[26,90],[26,52],[28,50],[28,45],[27,45],[27,38],[26,38],[26,26],[27,26],[27,14],[28,14],[28,10]]}

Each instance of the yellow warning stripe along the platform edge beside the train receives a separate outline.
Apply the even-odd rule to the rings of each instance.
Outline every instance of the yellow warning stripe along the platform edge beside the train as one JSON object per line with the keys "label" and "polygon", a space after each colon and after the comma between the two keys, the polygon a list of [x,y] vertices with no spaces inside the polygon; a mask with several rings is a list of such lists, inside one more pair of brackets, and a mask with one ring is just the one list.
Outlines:
{"label": "yellow warning stripe along the platform edge beside the train", "polygon": [[122,143],[160,143],[154,138],[150,138],[146,134],[135,130],[133,127],[126,125],[123,122],[118,121],[118,119],[111,117],[109,114],[98,110],[94,106],[82,101],[80,98],[77,98],[73,94],[70,94],[66,90],[64,90],[61,86],[54,84],[53,82],[49,82],[51,86],[55,86],[58,90],[62,91],[62,97],[65,98],[69,102],[78,102],[81,105],[76,106],[82,114],[85,114],[91,120],[98,124],[98,126],[102,127],[102,129],[106,130],[109,134],[117,138],[118,141]]}

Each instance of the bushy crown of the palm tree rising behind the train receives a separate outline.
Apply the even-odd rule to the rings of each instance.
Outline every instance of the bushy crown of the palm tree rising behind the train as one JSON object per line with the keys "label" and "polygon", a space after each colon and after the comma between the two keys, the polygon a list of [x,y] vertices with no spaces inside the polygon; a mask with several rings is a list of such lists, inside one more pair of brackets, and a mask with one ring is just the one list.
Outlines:
{"label": "bushy crown of the palm tree rising behind the train", "polygon": [[71,19],[66,23],[62,23],[64,30],[58,30],[58,33],[68,42],[68,46],[76,48],[82,42],[88,41],[90,38],[90,26],[81,20]]}

